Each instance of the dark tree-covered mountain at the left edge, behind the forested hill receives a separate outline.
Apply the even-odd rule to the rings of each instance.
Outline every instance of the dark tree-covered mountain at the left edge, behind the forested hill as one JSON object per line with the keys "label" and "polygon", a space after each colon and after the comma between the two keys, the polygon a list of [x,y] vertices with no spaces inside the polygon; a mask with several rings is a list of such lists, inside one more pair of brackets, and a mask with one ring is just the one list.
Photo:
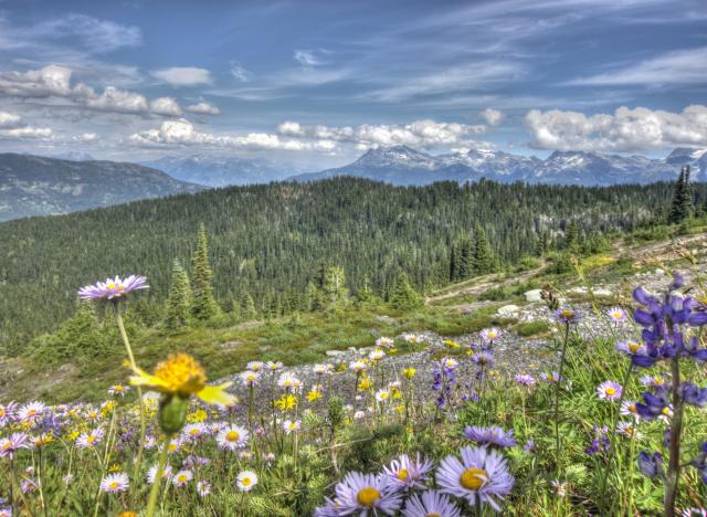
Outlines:
{"label": "dark tree-covered mountain at the left edge, behind the forested hill", "polygon": [[0,154],[0,221],[203,189],[137,163]]}

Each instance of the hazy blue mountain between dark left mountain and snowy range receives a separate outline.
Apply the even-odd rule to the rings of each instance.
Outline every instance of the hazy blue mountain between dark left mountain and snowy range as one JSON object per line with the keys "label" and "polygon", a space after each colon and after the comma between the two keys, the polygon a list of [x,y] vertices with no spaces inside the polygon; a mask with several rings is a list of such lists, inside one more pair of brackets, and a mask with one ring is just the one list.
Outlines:
{"label": "hazy blue mountain between dark left mountain and snowy range", "polygon": [[180,181],[209,187],[267,183],[298,172],[288,166],[278,167],[264,159],[236,156],[167,156],[143,165],[162,170]]}

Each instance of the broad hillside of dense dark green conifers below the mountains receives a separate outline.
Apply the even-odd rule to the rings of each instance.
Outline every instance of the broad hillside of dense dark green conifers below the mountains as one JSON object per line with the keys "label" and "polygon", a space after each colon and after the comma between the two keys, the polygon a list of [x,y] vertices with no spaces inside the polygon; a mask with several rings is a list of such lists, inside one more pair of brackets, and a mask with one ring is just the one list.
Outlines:
{"label": "broad hillside of dense dark green conifers below the mountains", "polygon": [[[703,207],[707,186],[694,186],[693,193]],[[328,266],[344,267],[352,293],[368,286],[387,298],[401,272],[418,291],[458,279],[452,250],[477,242],[479,228],[490,251],[484,267],[498,267],[561,249],[572,221],[572,233],[589,241],[663,219],[672,196],[668,183],[403,188],[339,178],[12,221],[0,224],[2,344],[17,346],[55,328],[73,314],[78,286],[113,274],[146,275],[154,287],[141,297],[143,315],[160,317],[175,258],[191,272],[200,223],[223,309],[251,306],[252,298],[258,313],[283,314],[312,304],[308,286],[320,284]]]}

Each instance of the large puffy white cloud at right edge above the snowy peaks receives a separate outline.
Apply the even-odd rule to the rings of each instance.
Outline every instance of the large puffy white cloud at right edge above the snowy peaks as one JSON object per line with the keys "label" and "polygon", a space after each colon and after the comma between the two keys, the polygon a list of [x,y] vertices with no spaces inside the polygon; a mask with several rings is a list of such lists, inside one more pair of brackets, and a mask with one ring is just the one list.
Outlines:
{"label": "large puffy white cloud at right edge above the snowy peaks", "polygon": [[707,106],[680,113],[620,107],[613,115],[531,109],[525,118],[531,145],[542,149],[635,152],[707,146]]}

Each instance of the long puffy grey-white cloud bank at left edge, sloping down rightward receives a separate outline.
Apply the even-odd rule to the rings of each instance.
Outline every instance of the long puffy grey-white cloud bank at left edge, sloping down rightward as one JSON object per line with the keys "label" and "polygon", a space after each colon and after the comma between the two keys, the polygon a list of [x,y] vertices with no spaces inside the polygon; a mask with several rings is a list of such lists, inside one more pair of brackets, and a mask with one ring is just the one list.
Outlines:
{"label": "long puffy grey-white cloud bank at left edge, sloping down rightward", "polygon": [[98,94],[84,83],[76,83],[72,87],[72,75],[71,68],[59,65],[49,65],[28,72],[1,73],[0,95],[30,98],[57,97],[77,106],[109,113],[181,115],[181,108],[172,97],[160,97],[150,103],[139,93],[115,86],[106,86],[103,93]]}

